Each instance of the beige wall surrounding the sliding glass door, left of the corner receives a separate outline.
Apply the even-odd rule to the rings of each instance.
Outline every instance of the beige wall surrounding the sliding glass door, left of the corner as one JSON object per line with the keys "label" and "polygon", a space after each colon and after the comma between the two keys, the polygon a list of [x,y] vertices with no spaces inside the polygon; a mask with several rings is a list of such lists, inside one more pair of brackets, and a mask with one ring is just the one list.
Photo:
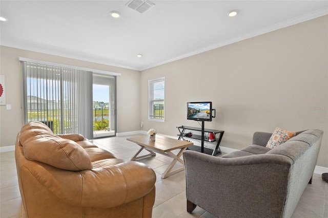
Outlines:
{"label": "beige wall surrounding the sliding glass door, left of the corner", "polygon": [[5,105],[0,105],[0,146],[14,145],[16,135],[23,125],[22,91],[20,88],[22,69],[18,60],[19,57],[121,73],[121,76],[117,77],[117,132],[139,130],[139,71],[1,46],[0,74],[6,77],[6,104],[11,104],[12,110],[6,110]]}

